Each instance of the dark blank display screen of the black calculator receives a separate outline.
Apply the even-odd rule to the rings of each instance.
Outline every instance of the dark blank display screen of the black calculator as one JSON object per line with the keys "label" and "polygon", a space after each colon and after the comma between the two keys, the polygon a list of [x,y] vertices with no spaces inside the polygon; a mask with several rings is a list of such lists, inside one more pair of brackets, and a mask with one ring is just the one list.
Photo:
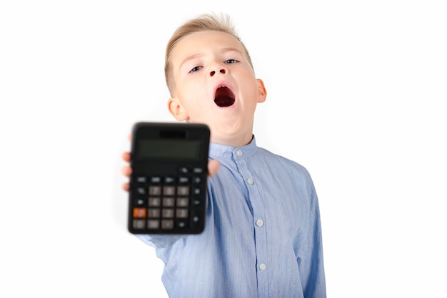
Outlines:
{"label": "dark blank display screen of the black calculator", "polygon": [[201,144],[200,140],[140,140],[136,158],[198,160],[201,157]]}

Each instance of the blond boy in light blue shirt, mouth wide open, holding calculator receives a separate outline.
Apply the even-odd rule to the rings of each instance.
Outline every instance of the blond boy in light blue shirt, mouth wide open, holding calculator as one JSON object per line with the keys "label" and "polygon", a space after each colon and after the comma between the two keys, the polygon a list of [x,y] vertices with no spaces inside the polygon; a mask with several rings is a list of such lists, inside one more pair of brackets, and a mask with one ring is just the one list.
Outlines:
{"label": "blond boy in light blue shirt, mouth wide open, holding calculator", "polygon": [[228,17],[202,15],[177,29],[165,74],[174,118],[211,130],[204,232],[139,235],[164,261],[169,297],[326,297],[313,182],[301,165],[256,146],[266,88]]}

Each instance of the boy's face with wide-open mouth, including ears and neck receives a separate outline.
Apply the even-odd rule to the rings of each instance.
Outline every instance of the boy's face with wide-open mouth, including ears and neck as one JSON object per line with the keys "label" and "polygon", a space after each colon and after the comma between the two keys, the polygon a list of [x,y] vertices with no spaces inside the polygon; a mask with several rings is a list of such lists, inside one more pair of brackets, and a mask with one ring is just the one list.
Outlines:
{"label": "boy's face with wide-open mouth, including ears and neck", "polygon": [[211,142],[251,141],[256,104],[266,100],[242,44],[230,34],[202,31],[181,39],[171,56],[175,90],[169,111],[177,120],[205,123]]}

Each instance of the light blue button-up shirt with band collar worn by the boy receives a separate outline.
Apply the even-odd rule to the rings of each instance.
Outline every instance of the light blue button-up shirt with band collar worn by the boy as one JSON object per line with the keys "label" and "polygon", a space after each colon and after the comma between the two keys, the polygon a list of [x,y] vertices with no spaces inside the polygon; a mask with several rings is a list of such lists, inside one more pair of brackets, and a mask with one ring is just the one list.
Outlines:
{"label": "light blue button-up shirt with band collar worn by the boy", "polygon": [[311,176],[259,148],[210,144],[221,163],[208,180],[199,235],[139,235],[165,264],[171,298],[326,297],[321,223]]}

